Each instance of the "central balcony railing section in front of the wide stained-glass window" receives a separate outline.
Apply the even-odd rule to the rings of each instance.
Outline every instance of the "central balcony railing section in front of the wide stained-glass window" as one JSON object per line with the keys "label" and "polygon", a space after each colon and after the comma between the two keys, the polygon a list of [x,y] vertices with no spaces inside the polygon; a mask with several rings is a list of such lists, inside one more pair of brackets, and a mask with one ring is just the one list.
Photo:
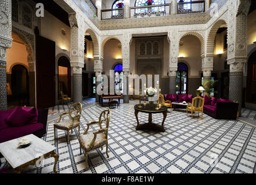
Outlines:
{"label": "central balcony railing section in front of the wide stained-glass window", "polygon": [[130,15],[134,18],[165,16],[170,14],[170,4],[136,6],[130,8]]}

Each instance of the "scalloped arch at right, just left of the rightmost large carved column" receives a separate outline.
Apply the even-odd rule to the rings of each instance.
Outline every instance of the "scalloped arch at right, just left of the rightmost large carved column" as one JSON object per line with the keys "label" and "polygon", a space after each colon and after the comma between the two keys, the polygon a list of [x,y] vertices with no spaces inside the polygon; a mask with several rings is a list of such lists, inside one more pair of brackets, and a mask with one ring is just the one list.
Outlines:
{"label": "scalloped arch at right, just left of the rightmost large carved column", "polygon": [[215,44],[215,36],[217,34],[218,29],[221,27],[222,24],[228,24],[225,20],[219,19],[217,20],[211,27],[211,30],[207,37],[207,46],[206,46],[206,54],[214,54],[214,44]]}

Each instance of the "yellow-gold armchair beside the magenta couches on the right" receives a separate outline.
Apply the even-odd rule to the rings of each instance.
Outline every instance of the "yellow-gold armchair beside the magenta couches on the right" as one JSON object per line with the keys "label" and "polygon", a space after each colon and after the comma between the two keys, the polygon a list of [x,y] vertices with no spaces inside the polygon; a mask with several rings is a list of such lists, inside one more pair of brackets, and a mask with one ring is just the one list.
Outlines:
{"label": "yellow-gold armchair beside the magenta couches on the right", "polygon": [[201,119],[203,120],[203,111],[204,111],[204,98],[201,97],[195,97],[192,99],[192,103],[188,103],[187,106],[187,116],[188,111],[191,112],[191,117],[193,118],[193,112],[201,112]]}

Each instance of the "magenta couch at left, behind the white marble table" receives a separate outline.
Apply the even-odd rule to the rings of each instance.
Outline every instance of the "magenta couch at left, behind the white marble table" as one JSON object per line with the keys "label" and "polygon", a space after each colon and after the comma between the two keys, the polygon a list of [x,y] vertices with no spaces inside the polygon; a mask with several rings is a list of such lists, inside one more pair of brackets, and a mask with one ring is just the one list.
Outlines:
{"label": "magenta couch at left, behind the white marble table", "polygon": [[46,133],[48,109],[38,110],[38,121],[34,124],[26,124],[21,127],[11,127],[5,119],[14,109],[0,111],[0,143],[20,138],[28,134],[34,134],[41,138]]}

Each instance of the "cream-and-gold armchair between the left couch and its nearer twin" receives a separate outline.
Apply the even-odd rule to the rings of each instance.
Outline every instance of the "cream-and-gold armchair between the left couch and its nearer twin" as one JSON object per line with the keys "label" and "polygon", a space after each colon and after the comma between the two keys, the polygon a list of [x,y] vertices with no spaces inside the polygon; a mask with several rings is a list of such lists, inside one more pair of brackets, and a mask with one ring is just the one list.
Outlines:
{"label": "cream-and-gold armchair between the left couch and its nearer twin", "polygon": [[[69,131],[71,130],[71,133],[73,133],[73,129],[78,127],[78,133],[80,134],[80,117],[82,113],[82,104],[80,102],[73,103],[69,109],[68,112],[64,112],[60,114],[60,118],[53,125],[54,127],[54,139],[56,139],[56,129],[62,129],[64,131],[67,131],[67,142],[69,142]],[[62,120],[63,116],[69,116],[70,120]]]}

